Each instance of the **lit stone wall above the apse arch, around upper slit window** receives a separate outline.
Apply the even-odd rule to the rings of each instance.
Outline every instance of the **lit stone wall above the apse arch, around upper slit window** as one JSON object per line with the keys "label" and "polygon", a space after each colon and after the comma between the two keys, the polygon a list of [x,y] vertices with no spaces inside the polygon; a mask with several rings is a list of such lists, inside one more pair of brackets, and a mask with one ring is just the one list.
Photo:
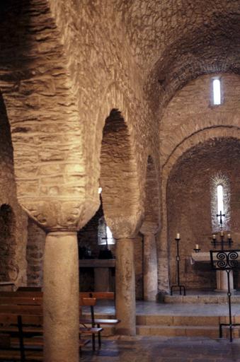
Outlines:
{"label": "lit stone wall above the apse arch, around upper slit window", "polygon": [[183,140],[211,127],[239,127],[240,76],[220,74],[223,104],[212,106],[212,76],[188,83],[168,104],[161,119],[160,154],[165,167],[168,158]]}

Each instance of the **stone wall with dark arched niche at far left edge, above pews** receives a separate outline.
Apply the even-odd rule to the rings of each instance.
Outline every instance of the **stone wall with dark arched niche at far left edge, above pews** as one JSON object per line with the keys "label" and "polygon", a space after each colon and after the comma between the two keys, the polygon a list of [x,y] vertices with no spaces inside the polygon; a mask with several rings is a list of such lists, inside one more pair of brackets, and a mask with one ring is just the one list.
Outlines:
{"label": "stone wall with dark arched niche at far left edge, above pews", "polygon": [[16,198],[10,127],[3,100],[0,102],[0,280],[19,286],[26,283],[28,217]]}

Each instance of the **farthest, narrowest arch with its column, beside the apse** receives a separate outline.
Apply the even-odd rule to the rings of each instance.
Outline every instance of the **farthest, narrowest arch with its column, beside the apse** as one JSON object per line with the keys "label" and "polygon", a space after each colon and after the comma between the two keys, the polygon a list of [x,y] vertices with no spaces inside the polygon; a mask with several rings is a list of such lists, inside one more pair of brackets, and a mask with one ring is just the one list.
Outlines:
{"label": "farthest, narrowest arch with its column, beside the apse", "polygon": [[[158,291],[158,263],[156,233],[160,227],[159,189],[160,177],[152,156],[147,158],[147,173],[144,187],[144,221],[140,228],[143,239],[143,295],[144,300],[156,300]],[[140,259],[140,258],[138,258]]]}

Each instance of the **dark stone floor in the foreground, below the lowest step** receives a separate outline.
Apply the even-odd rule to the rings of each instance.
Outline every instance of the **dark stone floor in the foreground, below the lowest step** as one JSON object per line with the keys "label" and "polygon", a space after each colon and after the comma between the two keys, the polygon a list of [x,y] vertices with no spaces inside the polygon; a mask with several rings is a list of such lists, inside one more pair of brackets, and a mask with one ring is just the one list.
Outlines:
{"label": "dark stone floor in the foreground, below the lowest step", "polygon": [[82,362],[240,362],[240,340],[199,337],[112,337],[101,351],[84,348]]}

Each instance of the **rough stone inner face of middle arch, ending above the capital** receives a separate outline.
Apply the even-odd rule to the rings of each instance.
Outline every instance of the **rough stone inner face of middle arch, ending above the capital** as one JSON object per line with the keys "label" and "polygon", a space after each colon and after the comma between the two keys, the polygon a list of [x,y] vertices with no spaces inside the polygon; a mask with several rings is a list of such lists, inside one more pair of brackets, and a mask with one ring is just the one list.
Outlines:
{"label": "rough stone inner face of middle arch, ending above the capital", "polygon": [[101,178],[105,216],[131,215],[137,204],[136,165],[124,117],[113,109],[105,119],[101,145]]}

